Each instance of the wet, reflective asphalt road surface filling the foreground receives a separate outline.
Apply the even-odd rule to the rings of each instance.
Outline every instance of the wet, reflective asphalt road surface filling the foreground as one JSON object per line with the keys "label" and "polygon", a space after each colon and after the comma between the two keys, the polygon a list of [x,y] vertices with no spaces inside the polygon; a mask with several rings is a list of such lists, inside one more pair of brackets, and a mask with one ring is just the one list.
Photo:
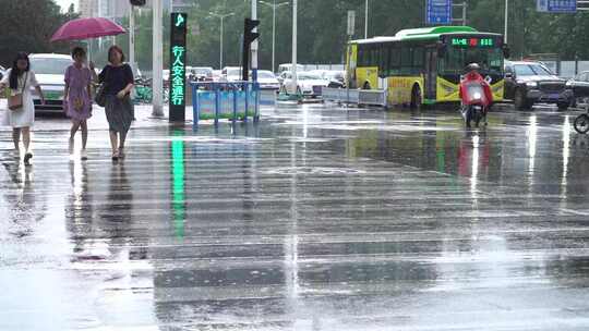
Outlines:
{"label": "wet, reflective asphalt road surface filling the foreground", "polygon": [[0,132],[0,330],[589,330],[574,112],[147,114],[117,163],[101,113],[85,162],[65,120],[32,167]]}

